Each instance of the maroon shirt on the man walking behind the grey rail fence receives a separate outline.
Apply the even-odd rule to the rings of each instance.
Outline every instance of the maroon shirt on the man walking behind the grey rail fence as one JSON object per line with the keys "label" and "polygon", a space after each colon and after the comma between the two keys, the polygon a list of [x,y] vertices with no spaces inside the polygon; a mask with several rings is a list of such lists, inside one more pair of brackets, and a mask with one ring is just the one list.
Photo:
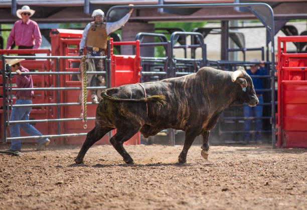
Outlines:
{"label": "maroon shirt on the man walking behind the grey rail fence", "polygon": [[[29,70],[22,65],[18,68],[21,72],[29,72]],[[19,75],[16,76],[17,88],[33,88],[33,80],[31,75]],[[33,97],[34,91],[16,91],[16,96]]]}

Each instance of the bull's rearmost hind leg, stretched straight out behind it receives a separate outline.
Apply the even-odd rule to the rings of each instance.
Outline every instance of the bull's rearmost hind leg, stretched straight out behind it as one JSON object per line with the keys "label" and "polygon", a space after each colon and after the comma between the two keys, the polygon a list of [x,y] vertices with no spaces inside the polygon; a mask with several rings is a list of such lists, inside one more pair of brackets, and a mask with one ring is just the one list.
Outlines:
{"label": "bull's rearmost hind leg, stretched straight out behind it", "polygon": [[75,158],[76,163],[82,163],[83,158],[87,150],[98,140],[100,140],[108,131],[112,130],[112,127],[99,127],[96,126],[87,133],[86,139],[78,153],[78,156]]}

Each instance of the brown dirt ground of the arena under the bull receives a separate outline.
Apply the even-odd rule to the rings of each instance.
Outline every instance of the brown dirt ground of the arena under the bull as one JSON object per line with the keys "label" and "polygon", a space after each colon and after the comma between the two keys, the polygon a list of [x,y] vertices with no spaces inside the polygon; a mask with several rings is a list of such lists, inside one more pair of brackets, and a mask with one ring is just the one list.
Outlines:
{"label": "brown dirt ground of the arena under the bull", "polygon": [[[0,144],[0,150],[8,148]],[[307,150],[270,145],[129,145],[134,166],[110,145],[49,145],[0,154],[0,209],[307,209]]]}

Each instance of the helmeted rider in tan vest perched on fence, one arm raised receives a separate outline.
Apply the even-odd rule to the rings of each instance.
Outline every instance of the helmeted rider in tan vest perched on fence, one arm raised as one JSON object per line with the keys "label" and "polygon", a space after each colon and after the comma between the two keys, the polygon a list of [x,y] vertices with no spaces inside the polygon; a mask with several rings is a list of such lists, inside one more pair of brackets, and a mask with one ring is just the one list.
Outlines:
{"label": "helmeted rider in tan vest perched on fence, one arm raised", "polygon": [[[133,6],[133,4],[129,4],[129,6]],[[92,17],[94,18],[94,21],[88,23],[86,27],[84,28],[82,38],[79,44],[79,47],[80,47],[79,55],[80,56],[83,55],[84,46],[86,46],[86,52],[85,52],[86,54],[89,54],[92,56],[103,56],[107,48],[108,35],[111,32],[120,28],[122,25],[124,25],[128,21],[132,13],[132,10],[133,9],[130,9],[130,11],[118,21],[105,22],[104,12],[101,9],[95,9],[92,13]],[[94,70],[103,71],[104,69],[103,60],[94,59],[94,62],[95,62]],[[105,85],[105,80],[102,75],[88,76],[88,82],[90,86],[104,86]],[[95,89],[91,90],[91,94],[92,94],[91,98],[93,102],[98,102],[98,96],[100,97],[100,94],[97,94],[97,92],[99,91]]]}

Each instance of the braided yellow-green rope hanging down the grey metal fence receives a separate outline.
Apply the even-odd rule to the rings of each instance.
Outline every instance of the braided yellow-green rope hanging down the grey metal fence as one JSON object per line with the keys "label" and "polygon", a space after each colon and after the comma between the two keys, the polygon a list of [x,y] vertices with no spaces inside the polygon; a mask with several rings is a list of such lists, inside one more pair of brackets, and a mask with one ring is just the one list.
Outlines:
{"label": "braided yellow-green rope hanging down the grey metal fence", "polygon": [[[88,63],[89,64],[89,63]],[[81,95],[82,95],[82,99],[83,101],[81,102],[81,118],[82,118],[82,121],[84,123],[84,129],[87,128],[87,124],[86,124],[86,121],[87,121],[87,106],[86,106],[86,102],[87,102],[87,74],[86,74],[86,71],[87,71],[87,68],[86,68],[86,57],[82,57],[81,59]]]}

